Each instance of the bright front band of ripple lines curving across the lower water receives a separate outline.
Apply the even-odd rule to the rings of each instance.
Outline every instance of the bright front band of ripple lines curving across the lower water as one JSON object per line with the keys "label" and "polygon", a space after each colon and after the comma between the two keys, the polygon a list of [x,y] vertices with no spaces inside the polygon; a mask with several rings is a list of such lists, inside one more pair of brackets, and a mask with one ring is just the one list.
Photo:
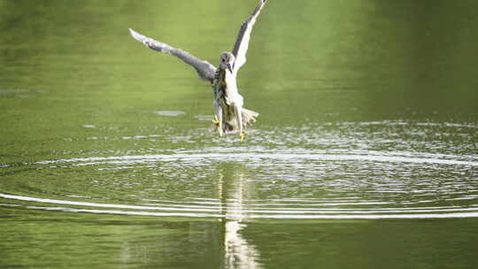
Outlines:
{"label": "bright front band of ripple lines curving across the lower water", "polygon": [[[443,218],[476,218],[478,207],[436,207],[407,209],[318,209],[318,208],[270,208],[258,207],[237,211],[237,208],[222,205],[193,206],[188,204],[169,204],[167,206],[144,206],[127,204],[99,204],[75,202],[68,200],[44,199],[29,196],[12,196],[0,194],[1,198],[23,202],[35,202],[51,205],[0,204],[4,206],[23,206],[27,209],[48,211],[89,212],[103,214],[124,214],[157,217],[187,217],[187,218],[224,218],[224,219],[443,219]],[[63,205],[63,206],[58,206]],[[78,207],[66,207],[78,206]],[[260,204],[266,206],[268,204]],[[283,205],[281,205],[283,206]],[[84,208],[88,207],[88,208]],[[231,211],[231,212],[227,212]]]}

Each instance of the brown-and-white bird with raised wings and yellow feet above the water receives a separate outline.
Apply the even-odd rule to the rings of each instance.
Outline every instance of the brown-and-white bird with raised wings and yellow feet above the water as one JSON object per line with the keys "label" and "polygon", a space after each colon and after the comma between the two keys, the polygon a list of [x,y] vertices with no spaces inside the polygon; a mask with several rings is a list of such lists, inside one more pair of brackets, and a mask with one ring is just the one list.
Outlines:
{"label": "brown-and-white bird with raised wings and yellow feet above the water", "polygon": [[186,50],[174,48],[165,42],[159,42],[129,28],[130,35],[136,41],[142,42],[151,50],[180,58],[196,69],[199,79],[211,82],[214,108],[213,127],[220,136],[239,133],[241,142],[243,142],[244,136],[248,135],[246,127],[256,122],[258,112],[243,107],[243,96],[239,94],[237,88],[237,73],[246,63],[252,27],[266,2],[267,0],[259,0],[251,15],[243,21],[233,50],[220,54],[220,63],[217,68],[209,62],[191,55]]}

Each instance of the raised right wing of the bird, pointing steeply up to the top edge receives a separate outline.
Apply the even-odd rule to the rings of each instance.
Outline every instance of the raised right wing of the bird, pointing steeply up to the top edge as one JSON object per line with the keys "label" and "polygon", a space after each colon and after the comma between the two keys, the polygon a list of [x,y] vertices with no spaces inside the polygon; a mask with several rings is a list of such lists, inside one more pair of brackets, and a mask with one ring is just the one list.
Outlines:
{"label": "raised right wing of the bird, pointing steeply up to the top edge", "polygon": [[239,68],[241,68],[241,66],[243,66],[246,62],[245,56],[247,53],[247,49],[249,48],[249,40],[251,39],[252,27],[254,27],[256,19],[258,19],[258,14],[266,4],[266,1],[267,0],[259,0],[258,6],[256,6],[256,9],[254,10],[254,12],[252,12],[251,16],[243,22],[241,30],[237,35],[234,50],[232,51],[235,56],[235,73],[237,73]]}

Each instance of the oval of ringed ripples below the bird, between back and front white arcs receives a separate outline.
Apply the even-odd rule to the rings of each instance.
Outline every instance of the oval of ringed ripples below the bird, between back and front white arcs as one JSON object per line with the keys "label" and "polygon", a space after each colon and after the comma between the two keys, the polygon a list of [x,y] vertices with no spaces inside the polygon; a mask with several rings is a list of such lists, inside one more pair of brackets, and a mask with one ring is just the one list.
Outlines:
{"label": "oval of ringed ripples below the bird, between back and front white arcs", "polygon": [[[221,170],[218,164],[232,166]],[[50,170],[65,176],[89,171],[75,184],[86,181],[90,188],[90,193],[62,199],[0,194],[35,203],[25,205],[28,209],[227,219],[478,217],[473,205],[478,201],[478,162],[450,154],[209,148],[44,160],[27,166],[35,167],[36,177]],[[446,178],[436,179],[436,174]],[[100,200],[118,202],[107,197],[116,191],[128,196],[130,204],[93,201],[95,188]]]}

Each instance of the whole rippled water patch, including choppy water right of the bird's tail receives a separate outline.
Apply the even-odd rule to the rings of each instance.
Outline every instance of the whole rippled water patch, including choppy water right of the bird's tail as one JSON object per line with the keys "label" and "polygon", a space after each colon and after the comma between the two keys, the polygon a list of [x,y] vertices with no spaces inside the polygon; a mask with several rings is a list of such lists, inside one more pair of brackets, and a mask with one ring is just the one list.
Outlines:
{"label": "whole rippled water patch, including choppy water right of the bird's tail", "polygon": [[417,129],[427,134],[436,125],[417,123],[401,131],[412,137],[397,131],[403,126],[343,124],[332,131],[322,125],[300,134],[259,130],[247,147],[220,146],[211,137],[201,149],[4,165],[0,203],[220,219],[478,217],[478,158],[455,154],[442,140],[416,150],[422,137]]}

